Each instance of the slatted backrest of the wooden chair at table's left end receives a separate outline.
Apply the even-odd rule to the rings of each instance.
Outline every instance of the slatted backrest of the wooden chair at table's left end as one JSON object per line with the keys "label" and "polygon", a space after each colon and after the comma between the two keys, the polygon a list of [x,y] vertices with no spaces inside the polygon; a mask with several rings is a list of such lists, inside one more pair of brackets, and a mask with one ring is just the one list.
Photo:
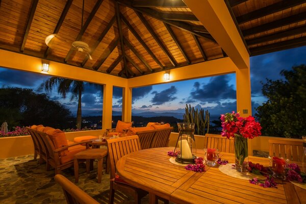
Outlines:
{"label": "slatted backrest of the wooden chair at table's left end", "polygon": [[116,163],[124,155],[141,150],[137,135],[107,139],[108,155],[111,162],[111,179],[116,173]]}

